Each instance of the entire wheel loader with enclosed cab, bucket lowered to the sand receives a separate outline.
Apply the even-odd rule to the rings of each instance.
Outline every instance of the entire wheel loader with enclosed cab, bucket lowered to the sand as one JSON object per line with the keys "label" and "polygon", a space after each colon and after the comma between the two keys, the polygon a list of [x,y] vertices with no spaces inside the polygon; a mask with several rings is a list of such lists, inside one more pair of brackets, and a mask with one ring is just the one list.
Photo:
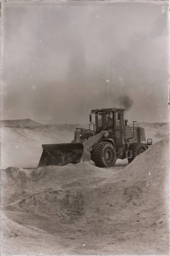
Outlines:
{"label": "entire wheel loader with enclosed cab, bucket lowered to the sand", "polygon": [[125,109],[102,108],[90,113],[89,129],[76,128],[74,140],[64,144],[42,145],[38,167],[64,166],[94,161],[101,168],[114,166],[116,159],[133,159],[152,145],[144,128],[127,125]]}

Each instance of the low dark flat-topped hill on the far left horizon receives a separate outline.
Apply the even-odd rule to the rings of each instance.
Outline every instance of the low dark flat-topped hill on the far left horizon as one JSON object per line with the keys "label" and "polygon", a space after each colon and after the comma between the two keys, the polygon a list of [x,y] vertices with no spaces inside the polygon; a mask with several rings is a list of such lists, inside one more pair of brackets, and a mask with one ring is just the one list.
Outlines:
{"label": "low dark flat-topped hill on the far left horizon", "polygon": [[0,127],[34,127],[40,125],[39,122],[31,119],[0,120]]}

